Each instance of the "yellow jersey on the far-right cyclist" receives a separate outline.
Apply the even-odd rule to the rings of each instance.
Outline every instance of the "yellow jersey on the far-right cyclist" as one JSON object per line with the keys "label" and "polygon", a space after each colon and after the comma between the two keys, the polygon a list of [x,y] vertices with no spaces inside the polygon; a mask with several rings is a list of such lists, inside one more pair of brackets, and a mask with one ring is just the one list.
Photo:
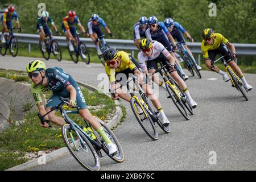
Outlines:
{"label": "yellow jersey on the far-right cyclist", "polygon": [[205,40],[203,40],[203,42],[201,43],[201,50],[203,52],[204,59],[208,59],[209,58],[208,51],[217,49],[218,47],[220,47],[221,43],[224,43],[226,45],[229,44],[229,40],[226,39],[223,35],[216,33],[216,34],[213,34],[213,36],[215,38],[213,40],[213,44],[212,45],[208,45],[205,42]]}

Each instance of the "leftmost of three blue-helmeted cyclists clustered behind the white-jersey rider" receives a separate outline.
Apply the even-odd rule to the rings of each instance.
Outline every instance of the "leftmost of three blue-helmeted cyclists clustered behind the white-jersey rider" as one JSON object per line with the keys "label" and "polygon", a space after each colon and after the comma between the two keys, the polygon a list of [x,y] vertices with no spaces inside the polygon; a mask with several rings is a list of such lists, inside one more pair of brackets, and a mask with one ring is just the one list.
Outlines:
{"label": "leftmost of three blue-helmeted cyclists clustered behind the white-jersey rider", "polygon": [[142,16],[139,18],[139,22],[135,23],[133,26],[133,39],[135,46],[139,48],[139,43],[141,42],[141,39],[146,38],[145,32],[147,30],[147,18],[146,16]]}

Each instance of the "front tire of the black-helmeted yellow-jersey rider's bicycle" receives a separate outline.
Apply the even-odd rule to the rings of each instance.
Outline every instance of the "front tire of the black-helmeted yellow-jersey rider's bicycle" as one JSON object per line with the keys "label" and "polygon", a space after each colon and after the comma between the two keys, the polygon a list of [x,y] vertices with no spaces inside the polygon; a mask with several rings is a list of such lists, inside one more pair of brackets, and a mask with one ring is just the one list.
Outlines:
{"label": "front tire of the black-helmeted yellow-jersey rider's bicycle", "polygon": [[[146,129],[146,127],[143,125],[143,123],[145,123],[145,125],[146,125],[146,122],[144,122],[144,120],[141,121],[141,117],[139,116],[139,113],[137,112],[137,109],[135,108],[135,104],[137,104],[137,105],[139,106],[138,101],[137,101],[135,98],[131,98],[131,100],[130,100],[131,110],[133,110],[133,113],[134,113],[134,115],[135,115],[137,121],[139,122],[139,125],[141,125],[142,129],[145,131],[145,133],[148,135],[148,137],[150,137],[152,140],[157,140],[157,139],[158,139],[158,132],[156,131],[156,127],[155,127],[154,122],[152,121],[152,119],[151,119],[150,117],[147,117],[147,118],[146,118],[146,115],[144,115],[144,113],[143,113],[143,115],[144,115],[144,120],[145,120],[145,119],[148,119],[148,121],[149,121],[149,123],[150,123],[150,128],[151,128],[152,131],[153,131],[152,133],[154,133],[154,134],[152,134],[152,133],[150,133],[150,131],[148,131],[148,129]],[[139,106],[139,107],[141,107],[141,106]],[[141,108],[141,109],[142,109],[142,108]],[[146,110],[145,110],[145,111],[146,111]],[[146,111],[146,113],[147,113],[147,111]],[[147,113],[147,115],[149,116],[148,113]],[[143,123],[142,123],[142,122],[143,122]]]}

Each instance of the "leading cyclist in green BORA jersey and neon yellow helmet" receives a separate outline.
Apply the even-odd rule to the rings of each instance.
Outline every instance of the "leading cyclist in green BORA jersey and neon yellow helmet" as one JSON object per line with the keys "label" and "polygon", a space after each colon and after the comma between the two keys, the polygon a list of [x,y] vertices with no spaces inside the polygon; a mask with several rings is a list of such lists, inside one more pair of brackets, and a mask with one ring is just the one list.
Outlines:
{"label": "leading cyclist in green BORA jersey and neon yellow helmet", "polygon": [[[43,61],[32,60],[27,64],[28,77],[31,78],[32,84],[30,92],[36,101],[39,113],[41,115],[46,114],[51,107],[61,103],[60,97],[69,97],[69,106],[75,106],[79,114],[85,121],[88,121],[90,125],[95,129],[107,143],[109,154],[114,154],[117,151],[117,146],[108,138],[100,122],[90,114],[87,109],[84,95],[80,89],[80,86],[72,78],[71,75],[64,72],[63,69],[55,67],[46,69],[46,65]],[[52,90],[52,97],[49,98],[46,108],[40,94]],[[44,123],[40,124],[42,127],[49,127],[49,121],[56,125],[63,126],[65,121],[63,118],[55,115],[56,111],[52,111],[44,117]]]}

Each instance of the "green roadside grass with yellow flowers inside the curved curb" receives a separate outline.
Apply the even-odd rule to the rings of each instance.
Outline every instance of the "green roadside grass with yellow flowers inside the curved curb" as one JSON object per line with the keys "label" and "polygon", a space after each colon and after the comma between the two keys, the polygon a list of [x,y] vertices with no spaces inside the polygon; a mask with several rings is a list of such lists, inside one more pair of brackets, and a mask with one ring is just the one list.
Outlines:
{"label": "green roadside grass with yellow flowers inside the curved curb", "polygon": [[[20,72],[0,70],[0,77],[10,78],[10,74],[18,75]],[[85,96],[86,105],[93,115],[105,120],[114,114],[115,104],[110,97],[82,87],[81,90]],[[48,100],[52,96],[52,92],[45,92],[43,96]],[[26,110],[27,113],[23,121],[20,121],[19,125],[12,122],[8,129],[0,133],[0,170],[37,158],[39,151],[44,151],[47,154],[65,147],[60,126],[51,123],[52,127],[48,129],[40,127],[38,111],[31,110],[31,107],[31,103],[25,103],[23,110]],[[68,106],[65,108],[68,109]],[[60,111],[57,111],[57,115],[61,117]],[[79,114],[69,114],[69,117],[78,125],[84,125]]]}

